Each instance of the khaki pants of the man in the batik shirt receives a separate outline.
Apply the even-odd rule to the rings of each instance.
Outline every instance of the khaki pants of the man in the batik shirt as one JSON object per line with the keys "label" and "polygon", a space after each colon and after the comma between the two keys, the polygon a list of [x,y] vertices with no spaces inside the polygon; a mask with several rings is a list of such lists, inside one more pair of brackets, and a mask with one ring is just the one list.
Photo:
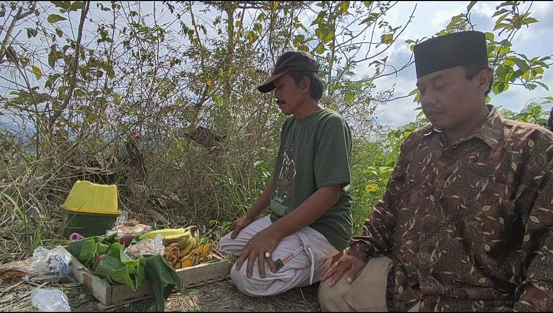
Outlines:
{"label": "khaki pants of the man in the batik shirt", "polygon": [[[371,258],[369,263],[351,284],[347,282],[347,272],[334,286],[330,279],[319,287],[319,303],[323,312],[373,311],[387,312],[386,283],[392,259]],[[420,302],[409,312],[419,312]]]}

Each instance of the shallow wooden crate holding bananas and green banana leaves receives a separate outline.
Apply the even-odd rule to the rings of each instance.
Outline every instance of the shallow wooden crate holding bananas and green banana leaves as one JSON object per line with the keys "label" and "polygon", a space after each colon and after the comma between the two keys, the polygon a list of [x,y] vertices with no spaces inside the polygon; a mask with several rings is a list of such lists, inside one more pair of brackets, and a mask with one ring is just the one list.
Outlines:
{"label": "shallow wooden crate holding bananas and green banana leaves", "polygon": [[[195,267],[176,270],[176,273],[182,280],[182,287],[191,288],[228,278],[231,273],[232,263],[216,255],[214,257],[218,259],[217,262],[203,263]],[[147,282],[144,282],[136,291],[133,291],[127,285],[112,285],[108,281],[97,277],[76,258],[72,258],[71,260],[70,272],[103,306],[118,305],[153,296],[153,294],[150,294],[150,287]]]}

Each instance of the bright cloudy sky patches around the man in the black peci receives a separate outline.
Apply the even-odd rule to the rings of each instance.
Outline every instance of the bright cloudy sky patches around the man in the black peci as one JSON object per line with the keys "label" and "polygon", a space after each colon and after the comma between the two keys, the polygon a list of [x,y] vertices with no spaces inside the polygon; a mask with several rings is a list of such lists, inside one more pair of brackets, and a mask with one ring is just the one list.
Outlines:
{"label": "bright cloudy sky patches around the man in the black peci", "polygon": [[[408,19],[408,15],[417,3],[417,8],[414,14],[413,22],[398,38],[400,43],[406,39],[415,39],[429,37],[441,29],[444,29],[451,21],[451,17],[467,11],[468,1],[458,2],[409,2],[400,1],[397,8],[390,11],[387,18],[390,24],[404,24]],[[475,30],[489,31],[493,29],[495,18],[492,19],[493,13],[496,11],[495,6],[500,2],[479,1],[472,8],[471,20],[476,24]],[[518,53],[523,53],[526,56],[546,56],[553,54],[553,2],[534,2],[531,9],[531,16],[538,19],[539,23],[530,24],[526,29],[523,27],[519,30],[513,40],[513,50]],[[401,44],[390,53],[389,64],[403,64],[409,59],[411,51],[408,44]],[[377,86],[392,86],[397,82],[395,88],[395,96],[408,95],[415,88],[416,75],[415,66],[410,66],[408,69],[401,71],[398,77],[388,76],[377,82]],[[548,73],[547,70],[542,80],[546,85],[553,88],[553,70]],[[544,88],[538,87],[534,91],[530,91],[523,86],[510,86],[509,90],[494,95],[491,93],[492,104],[503,106],[504,108],[512,109],[519,112],[525,104],[535,98],[538,103],[544,100],[541,97],[553,96],[553,90],[547,91]],[[378,113],[378,121],[381,124],[390,124],[393,127],[398,127],[414,121],[416,114],[419,111],[414,111],[418,107],[413,102],[413,97],[394,100]],[[551,105],[544,105],[544,108],[551,108]]]}

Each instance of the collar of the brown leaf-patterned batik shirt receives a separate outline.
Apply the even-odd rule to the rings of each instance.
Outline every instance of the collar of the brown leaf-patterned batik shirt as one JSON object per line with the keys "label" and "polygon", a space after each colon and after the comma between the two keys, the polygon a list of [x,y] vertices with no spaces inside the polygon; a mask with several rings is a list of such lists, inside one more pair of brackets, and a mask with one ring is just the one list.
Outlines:
{"label": "collar of the brown leaf-patterned batik shirt", "polygon": [[[499,146],[499,142],[503,139],[503,127],[505,124],[503,123],[503,119],[499,115],[497,108],[493,105],[487,105],[487,107],[489,114],[484,123],[474,129],[474,131],[468,133],[465,137],[457,140],[455,144],[459,144],[476,137],[481,139],[492,149],[496,149]],[[429,136],[431,134],[439,134],[442,137],[442,143],[445,142],[445,133],[442,129],[435,127],[431,128],[430,131],[423,134],[423,136]]]}

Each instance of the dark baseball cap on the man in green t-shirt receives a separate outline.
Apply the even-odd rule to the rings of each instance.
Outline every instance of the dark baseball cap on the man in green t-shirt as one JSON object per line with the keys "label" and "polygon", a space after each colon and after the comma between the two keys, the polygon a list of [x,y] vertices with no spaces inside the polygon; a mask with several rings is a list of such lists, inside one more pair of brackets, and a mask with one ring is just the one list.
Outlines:
{"label": "dark baseball cap on the man in green t-shirt", "polygon": [[274,81],[280,76],[285,75],[289,71],[305,71],[319,72],[319,66],[315,62],[313,56],[305,51],[289,51],[279,56],[276,60],[276,65],[273,69],[271,77],[264,81],[263,84],[257,86],[257,89],[262,92],[269,92],[275,88]]}

